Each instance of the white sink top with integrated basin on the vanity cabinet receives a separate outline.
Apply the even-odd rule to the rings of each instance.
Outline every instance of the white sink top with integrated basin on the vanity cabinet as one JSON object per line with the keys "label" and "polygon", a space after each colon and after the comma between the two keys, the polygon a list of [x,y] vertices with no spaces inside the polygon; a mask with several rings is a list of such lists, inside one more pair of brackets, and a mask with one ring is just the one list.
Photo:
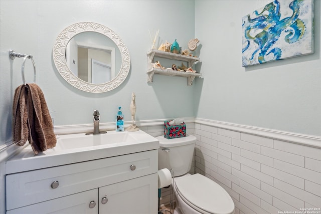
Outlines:
{"label": "white sink top with integrated basin on the vanity cabinet", "polygon": [[159,148],[159,141],[143,132],[115,132],[85,135],[65,134],[57,138],[56,147],[37,155],[30,145],[6,162],[6,174],[47,168],[76,162],[113,157]]}

